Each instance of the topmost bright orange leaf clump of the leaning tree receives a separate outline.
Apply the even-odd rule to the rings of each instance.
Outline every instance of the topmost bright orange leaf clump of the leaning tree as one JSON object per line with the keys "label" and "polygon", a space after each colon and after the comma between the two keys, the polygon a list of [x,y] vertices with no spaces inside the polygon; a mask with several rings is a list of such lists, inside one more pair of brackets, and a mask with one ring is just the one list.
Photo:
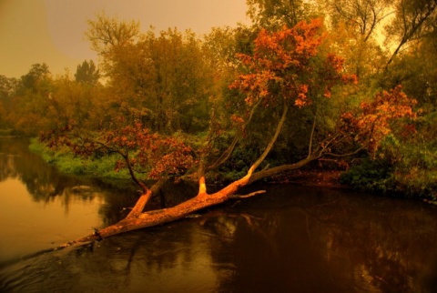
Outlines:
{"label": "topmost bright orange leaf clump of the leaning tree", "polygon": [[[279,99],[295,106],[311,103],[310,92],[330,96],[340,81],[356,82],[343,73],[343,59],[334,54],[319,56],[325,35],[321,19],[300,22],[277,32],[262,29],[255,40],[253,56],[239,55],[247,73],[241,74],[230,88],[246,94],[249,106],[278,105]],[[321,59],[321,60],[320,60]]]}

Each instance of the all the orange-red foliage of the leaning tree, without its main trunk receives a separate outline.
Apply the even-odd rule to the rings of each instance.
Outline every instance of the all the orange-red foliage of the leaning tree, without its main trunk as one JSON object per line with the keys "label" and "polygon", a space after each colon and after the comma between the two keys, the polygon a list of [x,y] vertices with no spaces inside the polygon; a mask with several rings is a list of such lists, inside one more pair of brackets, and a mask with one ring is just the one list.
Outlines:
{"label": "all the orange-red foliage of the leaning tree, without its main trunk", "polygon": [[[277,123],[276,130],[265,129],[265,133],[274,130],[274,135],[266,137],[265,141],[261,142],[260,146],[265,149],[255,163],[250,162],[253,163],[250,175],[254,174],[255,169],[275,145],[290,107],[293,106],[299,111],[300,107],[310,106],[312,103],[318,106],[320,99],[331,97],[334,86],[357,83],[356,76],[346,73],[343,58],[331,53],[329,45],[324,45],[327,35],[322,25],[321,19],[314,19],[310,22],[302,21],[291,28],[283,26],[274,32],[261,29],[253,42],[252,54],[238,55],[239,75],[229,87],[243,94],[235,95],[233,98],[241,99],[239,104],[244,104],[246,111],[241,114],[239,111],[232,112],[234,109],[229,108],[231,125],[234,128],[238,126],[239,129],[247,126],[251,123],[251,116],[259,114],[255,113],[257,106],[274,108],[275,111],[279,109],[276,113],[282,112],[280,118],[275,117],[277,122],[273,121],[273,127]],[[312,112],[314,117],[310,119],[313,119],[314,122],[311,124],[314,126],[308,134],[308,157],[297,165],[264,170],[269,173],[264,175],[259,172],[257,177],[308,164],[311,160],[323,156],[339,156],[334,155],[333,149],[340,144],[344,146],[344,142],[348,140],[351,147],[346,151],[343,148],[345,154],[341,156],[349,156],[363,148],[367,148],[372,154],[383,137],[391,131],[391,123],[394,120],[414,117],[413,105],[414,101],[401,92],[401,87],[396,87],[390,92],[381,92],[371,102],[362,103],[358,112],[354,110],[343,113],[338,127],[330,129],[331,133],[322,134],[325,137],[320,135],[318,139],[314,139],[317,113]],[[204,154],[193,146],[189,147],[169,133],[152,131],[151,127],[147,126],[146,118],[147,115],[127,118],[120,113],[118,120],[113,119],[107,125],[93,131],[84,129],[84,126],[70,120],[66,125],[46,132],[41,138],[51,147],[65,145],[80,156],[90,157],[95,153],[119,155],[116,170],[127,168],[134,181],[145,191],[147,187],[141,180],[182,176],[204,177],[203,172],[211,169],[208,167],[211,166],[211,162],[205,160],[214,160],[214,156]],[[237,135],[230,147],[219,157],[219,164],[231,156],[239,138]],[[208,168],[200,166],[199,162]],[[217,167],[219,164],[212,166]]]}

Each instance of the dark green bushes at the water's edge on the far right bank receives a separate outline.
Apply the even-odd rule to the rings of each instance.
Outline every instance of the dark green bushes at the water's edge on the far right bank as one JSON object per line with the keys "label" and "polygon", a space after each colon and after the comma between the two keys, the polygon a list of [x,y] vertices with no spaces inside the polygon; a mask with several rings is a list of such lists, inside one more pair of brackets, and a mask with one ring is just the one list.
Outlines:
{"label": "dark green bushes at the water's edge on the far right bank", "polygon": [[400,143],[388,136],[375,159],[363,158],[340,176],[356,189],[437,200],[437,152],[429,143]]}

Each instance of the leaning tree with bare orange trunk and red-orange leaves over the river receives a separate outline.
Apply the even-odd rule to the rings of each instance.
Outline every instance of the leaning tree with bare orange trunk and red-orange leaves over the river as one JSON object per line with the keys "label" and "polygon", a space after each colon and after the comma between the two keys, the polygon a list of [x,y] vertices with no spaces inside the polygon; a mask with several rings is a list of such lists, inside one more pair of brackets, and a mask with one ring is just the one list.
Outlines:
{"label": "leaning tree with bare orange trunk and red-orange leaves over the river", "polygon": [[[212,159],[214,156],[208,157],[212,155],[208,154],[210,151],[208,146],[211,145],[210,140],[213,141],[215,135],[211,135],[210,140],[208,136],[205,145],[193,150],[176,136],[154,133],[145,128],[141,120],[131,121],[130,116],[129,119],[121,116],[119,122],[109,123],[107,128],[102,126],[103,128],[98,128],[98,131],[86,131],[89,129],[74,120],[66,125],[60,124],[59,129],[49,131],[43,140],[51,141],[49,145],[52,146],[61,144],[70,147],[76,155],[90,157],[97,150],[102,154],[119,154],[124,158],[124,162],[120,164],[117,162],[116,170],[127,167],[132,179],[143,190],[136,206],[126,218],[73,243],[110,237],[187,217],[199,209],[218,205],[235,197],[240,187],[245,187],[264,177],[300,168],[320,157],[347,157],[357,154],[364,148],[375,154],[382,139],[391,132],[392,121],[415,117],[412,111],[415,102],[401,92],[400,86],[390,92],[378,93],[371,103],[362,103],[357,109],[340,114],[336,117],[335,126],[330,130],[327,129],[329,131],[326,134],[315,129],[316,121],[320,119],[317,118],[318,107],[314,106],[308,156],[294,164],[266,167],[256,172],[275,145],[289,107],[299,109],[313,105],[317,103],[317,99],[311,97],[329,98],[333,86],[358,82],[356,76],[344,72],[344,60],[340,56],[326,54],[324,50],[319,52],[319,46],[325,39],[321,28],[322,20],[315,19],[309,23],[303,21],[293,28],[283,27],[278,32],[270,33],[261,30],[254,42],[253,56],[239,55],[239,62],[244,70],[241,70],[239,76],[229,85],[229,89],[238,90],[245,98],[244,101],[240,101],[242,109],[228,114],[231,125],[237,127],[241,133],[237,134],[229,148],[210,167],[207,167],[207,158]],[[239,95],[236,98],[239,99]],[[274,134],[270,138],[266,137],[269,141],[265,141],[268,142],[267,147],[249,167],[246,176],[214,194],[208,194],[205,170],[218,167],[230,157],[256,110],[262,111],[273,106],[275,120],[280,116],[277,120],[278,124],[276,129],[267,129],[266,134],[270,130]],[[282,113],[279,114],[280,112]],[[81,131],[81,128],[84,131]],[[209,129],[211,134],[215,134],[216,130],[212,126]],[[314,136],[319,138],[313,146]],[[337,149],[340,149],[341,154],[335,153],[336,147],[339,147]],[[345,151],[349,151],[349,154],[342,153]],[[197,171],[196,166],[198,166]],[[149,188],[138,180],[135,176],[136,172],[147,174],[147,177],[157,179],[158,183],[155,187]],[[198,179],[198,195],[176,207],[143,212],[152,194],[158,191],[165,178],[172,176],[191,176]]]}

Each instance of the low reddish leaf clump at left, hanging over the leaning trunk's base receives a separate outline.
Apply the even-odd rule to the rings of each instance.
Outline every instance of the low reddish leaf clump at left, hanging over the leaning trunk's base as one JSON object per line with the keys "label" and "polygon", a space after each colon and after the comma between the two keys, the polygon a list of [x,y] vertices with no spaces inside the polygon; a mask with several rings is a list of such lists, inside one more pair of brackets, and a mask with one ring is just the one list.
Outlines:
{"label": "low reddish leaf clump at left, hanging over the leaning trunk's base", "polygon": [[139,122],[107,130],[102,135],[80,136],[79,132],[72,123],[57,132],[42,133],[40,137],[50,147],[66,145],[79,156],[117,153],[121,159],[117,161],[116,171],[127,167],[133,177],[143,174],[158,180],[178,176],[194,164],[191,147],[175,137],[153,133]]}

